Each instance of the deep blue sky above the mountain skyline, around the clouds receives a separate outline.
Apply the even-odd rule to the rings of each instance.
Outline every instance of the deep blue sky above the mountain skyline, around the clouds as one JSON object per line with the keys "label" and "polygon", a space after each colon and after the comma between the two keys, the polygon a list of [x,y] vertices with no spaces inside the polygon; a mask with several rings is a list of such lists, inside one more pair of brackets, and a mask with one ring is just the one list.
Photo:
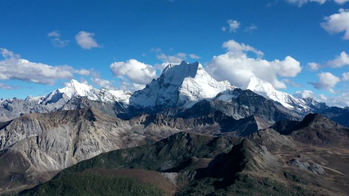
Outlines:
{"label": "deep blue sky above the mountain skyline, around the clouds", "polygon": [[[242,51],[243,55],[252,58],[258,66],[260,59],[255,51],[241,47],[222,47],[229,40],[234,40],[239,46],[244,43],[245,46],[262,51],[264,55],[260,58],[266,62],[276,59],[283,61],[287,56],[299,62],[298,67],[302,70],[295,70],[296,73],[291,73],[292,70],[287,70],[290,71],[289,74],[282,74],[283,71],[280,70],[270,71],[270,78],[275,78],[269,82],[282,88],[282,91],[294,94],[296,91],[310,90],[314,93],[311,96],[329,103],[334,97],[342,100],[343,96],[348,95],[348,81],[343,73],[349,71],[349,62],[345,61],[346,56],[343,55],[342,62],[338,64],[337,61],[336,64],[339,68],[334,68],[331,60],[341,52],[349,53],[349,38],[344,37],[346,31],[349,34],[349,11],[346,10],[349,2],[158,0],[101,3],[14,0],[0,1],[0,5],[0,48],[14,53],[0,59],[3,67],[11,67],[12,64],[17,66],[12,66],[16,68],[12,71],[6,68],[2,70],[0,63],[0,97],[3,98],[43,95],[61,88],[71,78],[86,80],[95,87],[135,90],[147,82],[146,78],[153,77],[154,71],[155,75],[159,75],[163,67],[161,64],[171,61],[177,63],[174,61],[179,59],[187,62],[200,61],[211,72],[216,70],[213,74],[216,79],[227,79],[229,75],[220,73],[226,69],[241,69],[241,66],[236,67],[234,64],[221,64],[219,68],[215,68],[214,55],[219,57],[227,52]],[[334,14],[342,19],[339,22],[332,21],[329,17]],[[231,28],[229,23],[232,24]],[[226,31],[223,31],[223,26]],[[49,33],[53,34],[48,36]],[[80,44],[78,34],[81,35]],[[195,54],[200,59],[194,55],[194,58],[190,58],[190,54]],[[34,69],[36,71],[33,73],[17,73],[25,67],[25,63],[18,64],[11,61],[11,58],[41,63],[52,66],[48,71],[64,70],[70,74],[48,74],[47,79],[53,78],[48,82],[43,78],[47,74],[35,75],[40,72],[40,67]],[[137,63],[128,63],[130,59],[137,60]],[[114,62],[126,63],[117,64],[114,67],[117,70],[112,70],[111,64]],[[308,63],[311,62],[317,63],[320,68],[310,70]],[[273,65],[273,69],[278,69],[278,65]],[[122,66],[133,67],[122,72]],[[140,70],[136,71],[151,73],[142,72],[132,76],[129,72],[135,66],[140,66]],[[252,66],[250,69],[255,68]],[[88,74],[80,72],[81,70],[88,71]],[[251,73],[259,74],[254,73],[254,70],[246,74]],[[331,73],[334,77],[330,75],[329,78],[329,75],[323,73]],[[5,76],[2,77],[1,74]],[[126,76],[121,77],[120,74]],[[144,74],[145,79],[137,80],[137,77]],[[234,77],[234,73],[232,74],[231,78]],[[269,78],[266,75],[257,76]],[[243,82],[234,78],[229,80],[233,85]],[[276,85],[276,82],[284,83],[286,89],[282,85]],[[298,92],[297,96],[301,96],[301,93]],[[347,104],[341,103],[342,106]]]}

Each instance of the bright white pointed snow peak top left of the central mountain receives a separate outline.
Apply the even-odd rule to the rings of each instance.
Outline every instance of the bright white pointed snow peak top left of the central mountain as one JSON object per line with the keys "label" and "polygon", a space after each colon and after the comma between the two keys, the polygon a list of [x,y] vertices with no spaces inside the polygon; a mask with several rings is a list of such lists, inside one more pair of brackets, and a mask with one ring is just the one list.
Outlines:
{"label": "bright white pointed snow peak top left of the central mountain", "polygon": [[74,79],[72,79],[64,88],[58,89],[59,93],[64,93],[69,99],[76,96],[86,97],[94,91],[95,89],[92,86],[80,83]]}

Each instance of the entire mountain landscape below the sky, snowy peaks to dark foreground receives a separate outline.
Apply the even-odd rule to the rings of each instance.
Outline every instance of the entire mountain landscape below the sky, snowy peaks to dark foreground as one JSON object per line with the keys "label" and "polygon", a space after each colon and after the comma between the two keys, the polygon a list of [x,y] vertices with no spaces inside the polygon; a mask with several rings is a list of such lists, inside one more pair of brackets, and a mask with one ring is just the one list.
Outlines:
{"label": "entire mountain landscape below the sky, snowy peaks to dark foreground", "polygon": [[0,100],[3,195],[349,195],[349,107],[169,64],[134,93]]}

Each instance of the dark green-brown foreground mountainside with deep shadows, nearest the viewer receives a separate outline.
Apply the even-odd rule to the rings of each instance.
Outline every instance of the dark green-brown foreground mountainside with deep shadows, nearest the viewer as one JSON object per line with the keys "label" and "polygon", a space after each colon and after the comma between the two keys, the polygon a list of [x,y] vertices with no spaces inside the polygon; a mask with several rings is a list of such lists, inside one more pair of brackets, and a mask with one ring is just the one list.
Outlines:
{"label": "dark green-brown foreground mountainside with deep shadows, nearest the viewer", "polygon": [[[278,148],[269,150],[268,146]],[[164,182],[174,183],[172,194],[158,186],[162,190],[160,195],[347,195],[348,171],[343,166],[349,157],[347,149],[337,149],[341,157],[336,161],[342,166],[329,161],[334,149],[314,153],[315,149],[305,148],[292,136],[280,135],[272,129],[248,138],[181,132],[155,144],[111,151],[82,161],[20,195],[73,195],[71,188],[88,194],[96,191],[88,179],[101,174],[101,169],[118,173],[130,168],[157,172],[167,178]],[[70,188],[73,183],[70,179],[82,175],[80,185]],[[140,177],[136,179],[142,181]],[[108,178],[104,180],[110,182]],[[156,186],[154,182],[148,183]],[[114,187],[121,184],[115,183]],[[121,189],[124,190],[122,187],[115,191]],[[114,195],[108,189],[103,192]]]}

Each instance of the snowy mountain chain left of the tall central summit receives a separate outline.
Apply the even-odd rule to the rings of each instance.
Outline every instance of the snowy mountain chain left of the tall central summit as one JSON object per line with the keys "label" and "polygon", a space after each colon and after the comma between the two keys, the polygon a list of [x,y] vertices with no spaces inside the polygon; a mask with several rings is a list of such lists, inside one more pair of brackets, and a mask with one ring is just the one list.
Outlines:
{"label": "snowy mountain chain left of the tall central summit", "polygon": [[[75,100],[75,98],[79,97],[87,98],[89,102],[95,102],[94,104],[100,105],[98,108],[104,107],[105,110],[116,115],[120,113],[119,110],[124,112],[124,109],[128,107],[131,95],[132,93],[128,91],[98,90],[73,79],[64,88],[54,90],[45,96],[28,96],[25,100],[17,98],[1,99],[0,122],[5,122],[27,113],[48,113],[56,110],[80,108],[83,105]],[[66,104],[68,105],[65,106]],[[84,104],[84,106],[89,105],[91,104]]]}

